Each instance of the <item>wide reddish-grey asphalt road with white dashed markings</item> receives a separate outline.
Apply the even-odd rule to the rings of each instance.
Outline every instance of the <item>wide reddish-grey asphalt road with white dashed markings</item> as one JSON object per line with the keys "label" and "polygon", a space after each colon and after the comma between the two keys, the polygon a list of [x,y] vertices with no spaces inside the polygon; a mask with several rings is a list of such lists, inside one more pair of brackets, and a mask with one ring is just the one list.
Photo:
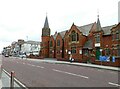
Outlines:
{"label": "wide reddish-grey asphalt road with white dashed markings", "polygon": [[118,72],[2,57],[2,66],[27,87],[118,87]]}

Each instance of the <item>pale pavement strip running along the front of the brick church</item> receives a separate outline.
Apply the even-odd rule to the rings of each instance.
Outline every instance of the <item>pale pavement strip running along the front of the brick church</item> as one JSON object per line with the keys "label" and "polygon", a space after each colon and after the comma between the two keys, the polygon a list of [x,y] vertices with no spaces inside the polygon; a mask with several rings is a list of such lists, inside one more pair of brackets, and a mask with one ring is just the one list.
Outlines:
{"label": "pale pavement strip running along the front of the brick church", "polygon": [[68,64],[68,65],[75,65],[75,66],[84,66],[84,67],[92,67],[92,68],[120,71],[119,67],[96,65],[96,64],[91,64],[91,63],[78,63],[78,62],[57,61],[56,59],[52,59],[52,58],[45,58],[45,59],[29,59],[29,58],[27,58],[27,60],[47,62],[47,63],[56,63],[56,64]]}

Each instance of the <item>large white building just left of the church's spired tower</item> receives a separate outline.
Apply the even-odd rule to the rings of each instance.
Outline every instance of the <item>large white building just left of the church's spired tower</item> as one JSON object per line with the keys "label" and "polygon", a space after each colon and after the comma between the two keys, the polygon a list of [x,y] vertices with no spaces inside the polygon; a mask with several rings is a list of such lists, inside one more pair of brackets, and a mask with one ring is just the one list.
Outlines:
{"label": "large white building just left of the church's spired tower", "polygon": [[37,41],[25,41],[21,46],[21,52],[25,52],[27,55],[33,53],[33,55],[39,55],[40,42]]}

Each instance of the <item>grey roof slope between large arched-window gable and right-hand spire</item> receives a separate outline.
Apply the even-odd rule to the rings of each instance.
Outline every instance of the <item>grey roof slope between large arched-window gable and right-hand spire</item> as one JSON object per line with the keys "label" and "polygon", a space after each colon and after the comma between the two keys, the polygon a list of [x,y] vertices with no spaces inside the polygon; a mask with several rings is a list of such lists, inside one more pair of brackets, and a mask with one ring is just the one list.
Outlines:
{"label": "grey roof slope between large arched-window gable and right-hand spire", "polygon": [[92,28],[92,26],[93,26],[93,24],[94,24],[94,23],[87,24],[87,25],[80,26],[80,27],[77,26],[77,28],[80,30],[80,32],[83,33],[83,35],[88,36],[88,35],[89,35],[89,32],[90,32],[90,30],[91,30],[91,28]]}

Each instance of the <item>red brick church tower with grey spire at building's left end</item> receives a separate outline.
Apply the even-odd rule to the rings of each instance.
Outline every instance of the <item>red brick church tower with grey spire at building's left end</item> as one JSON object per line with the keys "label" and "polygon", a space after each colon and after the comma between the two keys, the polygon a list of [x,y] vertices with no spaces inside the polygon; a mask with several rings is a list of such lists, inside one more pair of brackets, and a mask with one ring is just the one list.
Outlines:
{"label": "red brick church tower with grey spire at building's left end", "polygon": [[42,28],[42,42],[41,42],[41,55],[44,58],[49,57],[49,40],[50,40],[50,28],[48,18],[46,16],[44,27]]}

